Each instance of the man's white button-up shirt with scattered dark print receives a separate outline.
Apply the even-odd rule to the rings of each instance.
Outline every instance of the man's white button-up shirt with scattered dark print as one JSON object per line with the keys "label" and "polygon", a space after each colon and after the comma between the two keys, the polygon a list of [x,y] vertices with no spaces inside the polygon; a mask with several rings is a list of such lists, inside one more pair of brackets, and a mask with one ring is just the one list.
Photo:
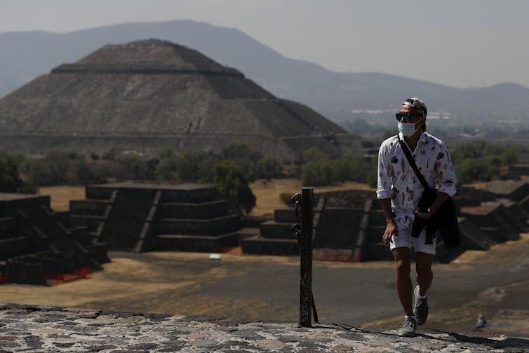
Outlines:
{"label": "man's white button-up shirt with scattered dark print", "polygon": [[[400,136],[403,139],[402,134]],[[443,141],[422,132],[412,155],[431,188],[438,185],[438,191],[455,195],[454,167]],[[393,212],[406,214],[405,223],[411,224],[422,191],[421,182],[410,167],[397,136],[382,142],[378,153],[377,198],[391,198]]]}

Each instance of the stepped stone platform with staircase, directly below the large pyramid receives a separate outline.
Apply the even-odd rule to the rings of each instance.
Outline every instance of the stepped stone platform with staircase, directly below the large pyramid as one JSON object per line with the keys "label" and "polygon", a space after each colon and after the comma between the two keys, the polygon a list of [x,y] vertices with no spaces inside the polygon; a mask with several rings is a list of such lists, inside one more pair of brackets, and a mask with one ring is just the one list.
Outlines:
{"label": "stepped stone platform with staircase, directly below the large pyramid", "polygon": [[72,223],[121,251],[222,251],[239,245],[241,221],[213,186],[108,184],[70,203]]}

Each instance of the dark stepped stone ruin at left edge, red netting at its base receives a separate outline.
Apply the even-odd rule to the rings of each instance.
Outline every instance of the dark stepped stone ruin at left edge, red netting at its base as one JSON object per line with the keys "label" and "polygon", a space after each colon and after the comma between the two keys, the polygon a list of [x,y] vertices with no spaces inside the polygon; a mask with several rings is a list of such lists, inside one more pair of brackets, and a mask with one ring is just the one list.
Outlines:
{"label": "dark stepped stone ruin at left edge, red netting at its base", "polygon": [[0,193],[0,283],[51,284],[79,277],[108,262],[105,243],[85,227],[70,227],[50,197]]}

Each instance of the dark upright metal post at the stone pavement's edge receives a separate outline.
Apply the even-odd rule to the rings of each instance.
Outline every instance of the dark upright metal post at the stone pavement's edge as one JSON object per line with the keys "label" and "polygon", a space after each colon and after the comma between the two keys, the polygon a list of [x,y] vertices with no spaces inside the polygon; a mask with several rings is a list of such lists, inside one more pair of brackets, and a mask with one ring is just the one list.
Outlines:
{"label": "dark upright metal post at the stone pavement's edge", "polygon": [[312,327],[312,219],[314,188],[301,189],[300,325]]}

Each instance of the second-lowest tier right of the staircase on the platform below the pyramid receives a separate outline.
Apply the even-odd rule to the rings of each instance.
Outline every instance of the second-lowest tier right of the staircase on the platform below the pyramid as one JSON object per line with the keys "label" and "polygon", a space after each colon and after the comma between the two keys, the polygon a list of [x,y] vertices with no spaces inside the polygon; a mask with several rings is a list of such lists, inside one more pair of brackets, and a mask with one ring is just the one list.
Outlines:
{"label": "second-lowest tier right of the staircase on the platform below the pyramid", "polygon": [[159,219],[156,234],[221,235],[241,228],[236,214],[213,219]]}

